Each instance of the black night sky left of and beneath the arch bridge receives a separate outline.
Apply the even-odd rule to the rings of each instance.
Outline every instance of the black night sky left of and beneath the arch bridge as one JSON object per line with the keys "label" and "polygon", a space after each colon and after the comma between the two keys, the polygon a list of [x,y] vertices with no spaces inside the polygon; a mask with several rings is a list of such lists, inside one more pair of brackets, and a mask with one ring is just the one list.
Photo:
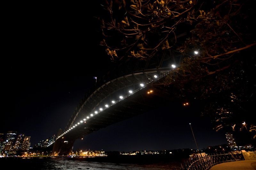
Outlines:
{"label": "black night sky left of and beneath the arch bridge", "polygon": [[[0,133],[18,131],[31,136],[32,146],[56,134],[94,85],[93,76],[109,67],[92,17],[97,11],[80,8],[66,4],[10,14],[5,25],[7,53],[1,62]],[[77,140],[74,149],[196,148],[189,123],[200,149],[227,144],[224,131],[215,132],[210,120],[200,117],[199,107],[194,101],[187,108],[175,101],[93,132]]]}

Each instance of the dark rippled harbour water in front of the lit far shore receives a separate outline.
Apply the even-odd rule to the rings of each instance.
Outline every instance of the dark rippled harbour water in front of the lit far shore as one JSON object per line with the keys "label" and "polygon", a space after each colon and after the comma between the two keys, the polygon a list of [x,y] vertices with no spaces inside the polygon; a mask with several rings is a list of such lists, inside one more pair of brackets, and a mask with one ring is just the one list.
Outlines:
{"label": "dark rippled harbour water in front of the lit far shore", "polygon": [[0,169],[26,170],[174,170],[180,169],[180,162],[166,163],[109,163],[87,161],[86,158],[0,158]]}

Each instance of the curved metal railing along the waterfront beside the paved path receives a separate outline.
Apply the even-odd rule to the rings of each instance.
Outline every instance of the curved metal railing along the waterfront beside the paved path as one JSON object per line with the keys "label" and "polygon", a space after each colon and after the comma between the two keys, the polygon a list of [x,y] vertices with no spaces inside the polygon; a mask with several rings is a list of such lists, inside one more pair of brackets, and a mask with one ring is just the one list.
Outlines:
{"label": "curved metal railing along the waterfront beside the paved path", "polygon": [[183,166],[181,165],[181,170],[208,170],[216,164],[237,160],[244,160],[242,152],[220,154],[213,153],[212,155],[198,153],[193,157],[190,157],[190,159],[186,161]]}

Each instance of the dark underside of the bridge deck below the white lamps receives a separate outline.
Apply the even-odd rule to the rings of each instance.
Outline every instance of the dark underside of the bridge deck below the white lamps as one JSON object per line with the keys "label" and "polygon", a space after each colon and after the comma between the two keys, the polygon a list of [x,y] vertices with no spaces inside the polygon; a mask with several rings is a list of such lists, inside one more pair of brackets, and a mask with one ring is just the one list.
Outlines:
{"label": "dark underside of the bridge deck below the white lamps", "polygon": [[[153,90],[153,93],[148,94],[148,90]],[[115,124],[122,120],[137,116],[149,110],[154,110],[161,107],[167,102],[174,100],[172,95],[164,94],[163,87],[146,87],[139,92],[125,98],[124,100],[112,105],[99,114],[94,115],[86,121],[81,123],[72,131],[68,132],[58,140],[68,141],[78,138],[83,138],[84,135],[98,131],[111,124]]]}

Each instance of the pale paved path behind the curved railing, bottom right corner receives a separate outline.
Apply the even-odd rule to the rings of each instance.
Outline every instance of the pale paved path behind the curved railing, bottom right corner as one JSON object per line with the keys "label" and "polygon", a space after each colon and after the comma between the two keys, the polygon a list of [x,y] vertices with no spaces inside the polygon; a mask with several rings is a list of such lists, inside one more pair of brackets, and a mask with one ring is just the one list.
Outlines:
{"label": "pale paved path behind the curved railing, bottom right corner", "polygon": [[256,170],[256,159],[225,162],[212,166],[210,170]]}

